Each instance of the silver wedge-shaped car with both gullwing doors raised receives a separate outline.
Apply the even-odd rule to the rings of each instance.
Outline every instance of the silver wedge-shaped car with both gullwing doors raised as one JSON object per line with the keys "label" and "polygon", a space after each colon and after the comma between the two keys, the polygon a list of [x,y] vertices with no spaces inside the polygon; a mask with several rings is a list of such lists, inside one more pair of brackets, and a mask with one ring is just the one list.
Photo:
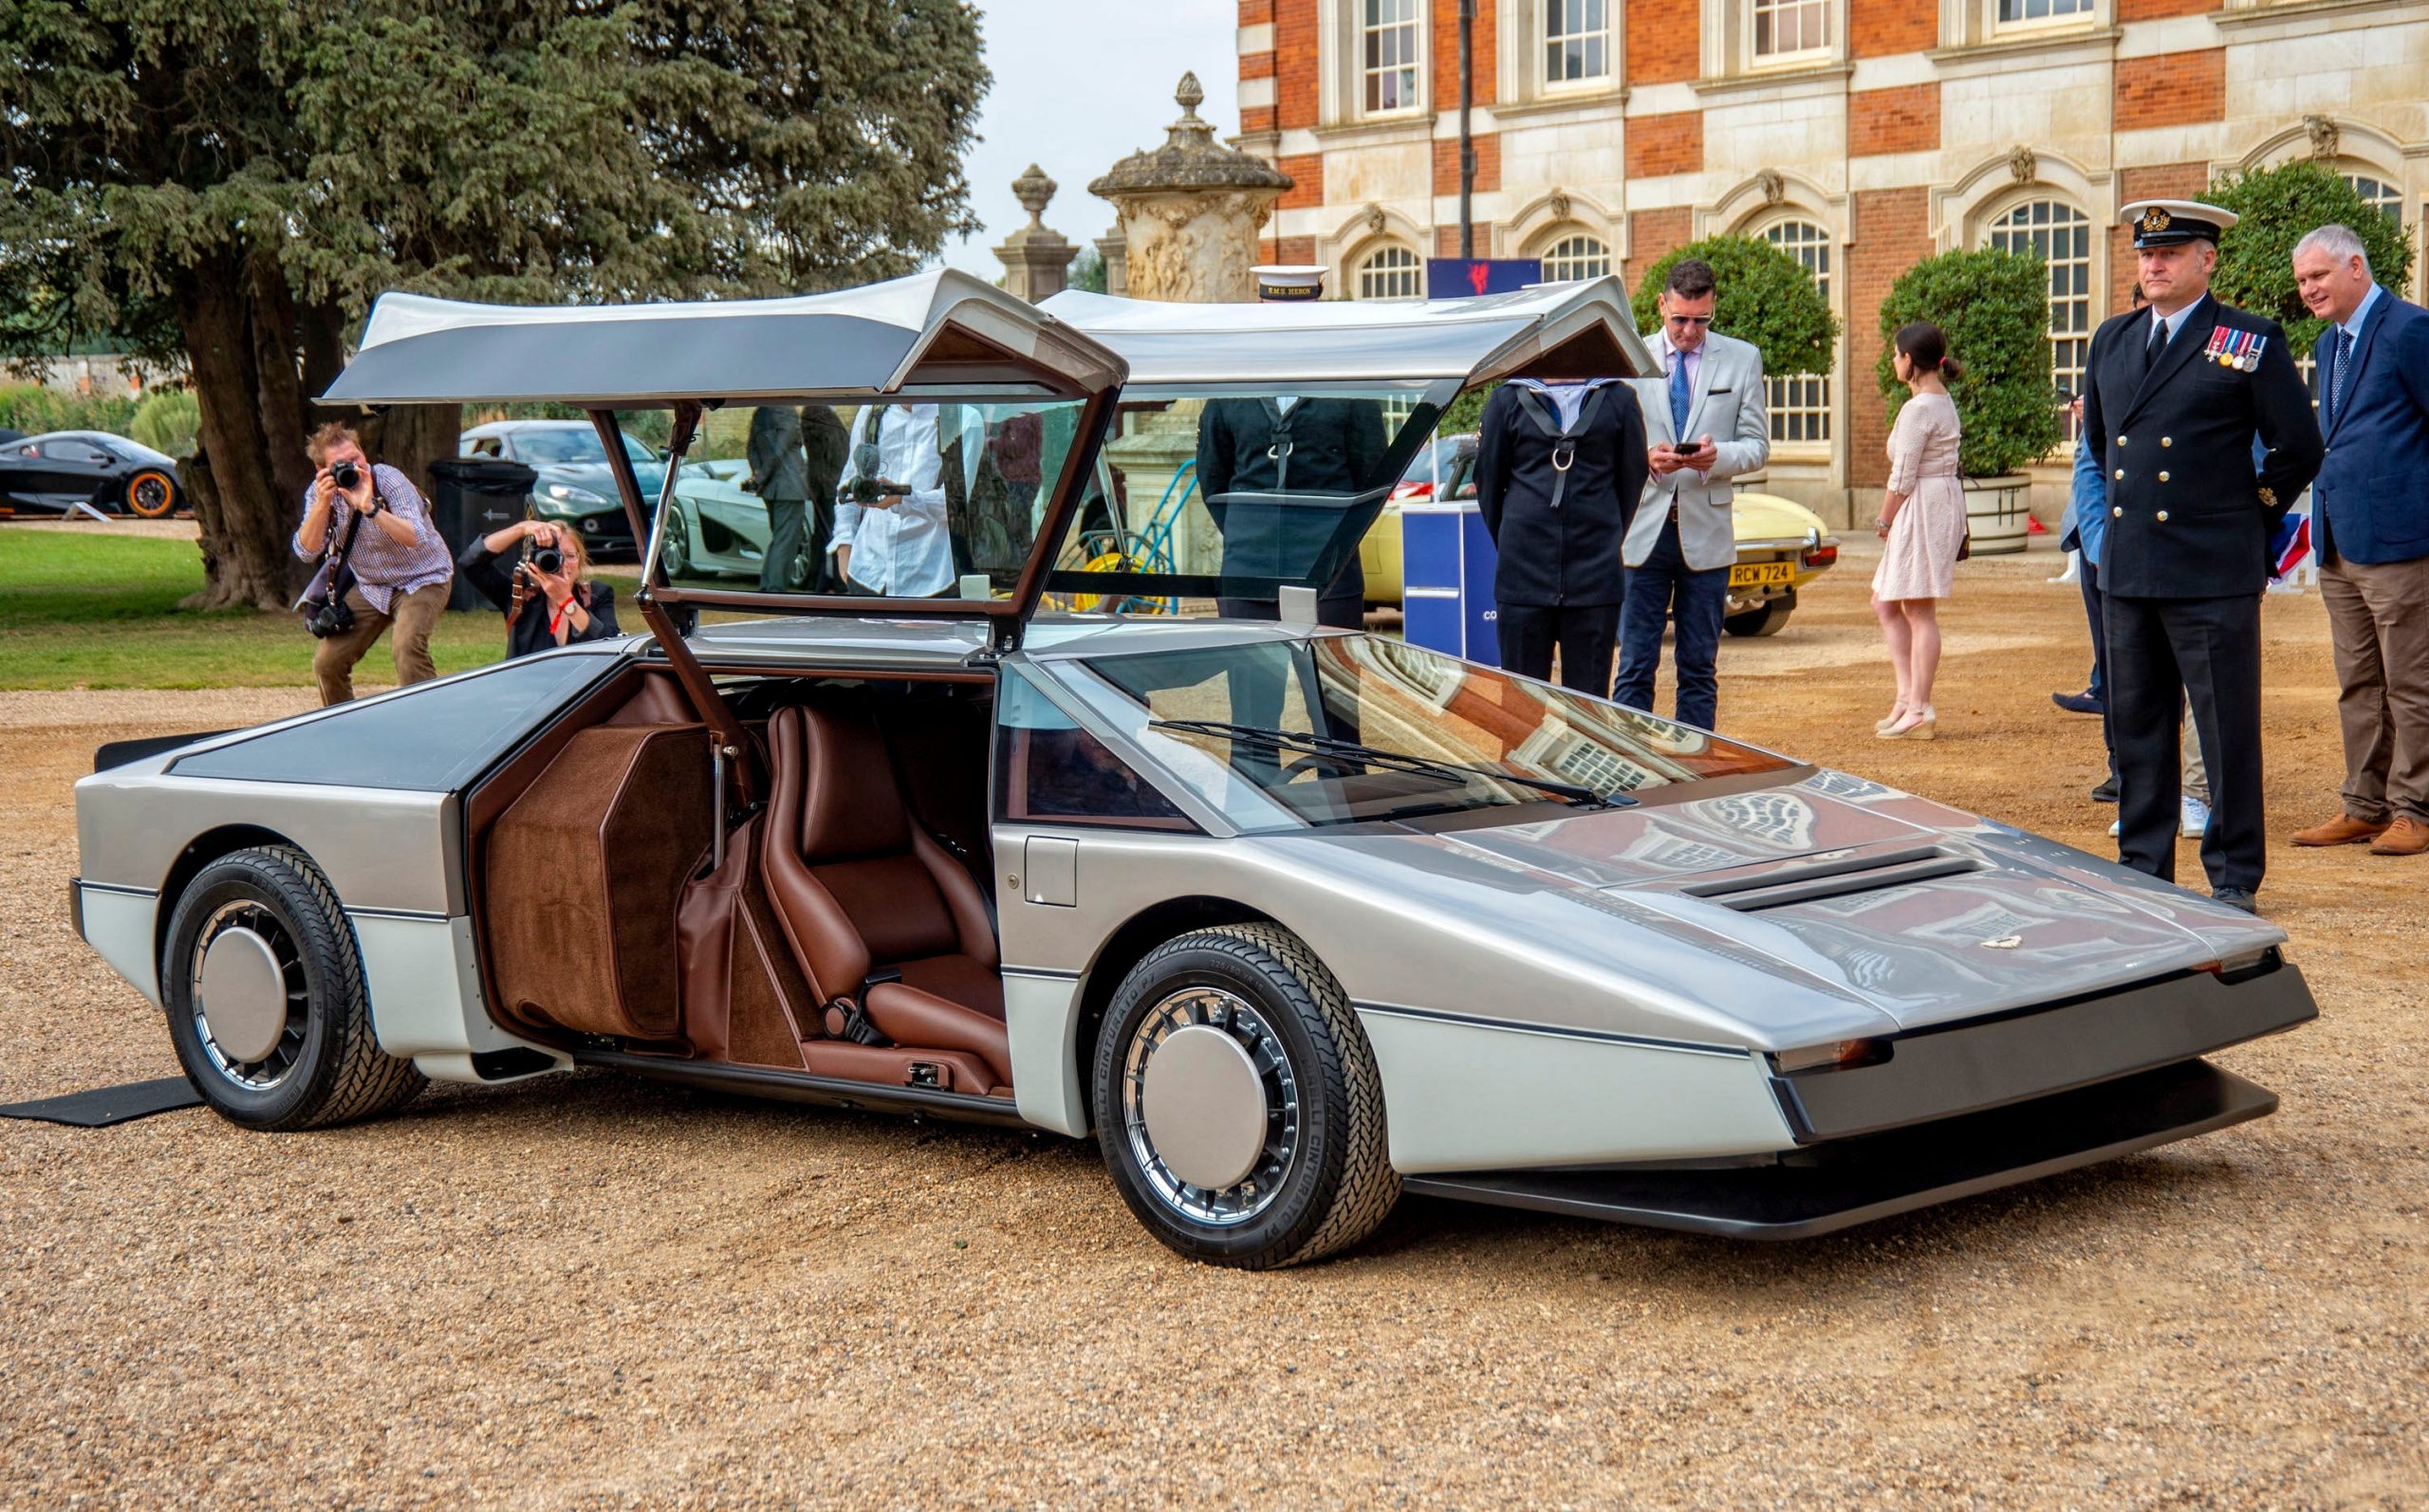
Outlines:
{"label": "silver wedge-shaped car with both gullwing doors raised", "polygon": [[1244,1267],[1402,1192],[1810,1235],[2271,1112],[2203,1056],[2315,1014],[2281,930],[1317,629],[1453,396],[1644,369],[1610,279],[389,296],[333,400],[673,410],[668,478],[704,405],[838,405],[884,597],[653,541],[653,633],[104,748],[78,930],[236,1124],[605,1065],[1093,1133],[1156,1238]]}

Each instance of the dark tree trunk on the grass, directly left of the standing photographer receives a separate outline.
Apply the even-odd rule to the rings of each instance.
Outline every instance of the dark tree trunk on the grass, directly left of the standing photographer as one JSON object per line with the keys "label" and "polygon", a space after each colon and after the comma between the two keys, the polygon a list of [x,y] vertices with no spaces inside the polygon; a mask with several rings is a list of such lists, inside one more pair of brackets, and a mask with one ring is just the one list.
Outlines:
{"label": "dark tree trunk on the grass, directly left of the standing photographer", "polygon": [[211,495],[194,500],[202,524],[204,587],[189,609],[284,609],[301,565],[287,548],[296,500],[282,500],[255,420],[260,374],[245,330],[245,269],[236,255],[204,257],[177,282],[185,335],[202,410],[202,449],[211,459]]}

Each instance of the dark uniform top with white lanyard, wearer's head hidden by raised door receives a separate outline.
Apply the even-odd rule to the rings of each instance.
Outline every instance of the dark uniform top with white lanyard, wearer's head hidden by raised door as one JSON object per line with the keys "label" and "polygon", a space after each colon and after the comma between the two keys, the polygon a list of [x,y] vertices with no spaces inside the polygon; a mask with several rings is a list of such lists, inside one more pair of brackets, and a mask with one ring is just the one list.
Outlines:
{"label": "dark uniform top with white lanyard, wearer's head hidden by raised door", "polygon": [[[1477,434],[1477,512],[1494,536],[1494,602],[1501,604],[1618,604],[1625,578],[1620,539],[1644,493],[1644,413],[1627,383],[1603,383],[1601,398],[1574,439],[1555,442],[1528,415],[1521,388],[1504,383],[1484,400]],[[1535,396],[1542,415],[1559,425],[1559,408]],[[1555,451],[1574,447],[1569,471],[1555,468]],[[1555,488],[1559,507],[1552,507]]]}

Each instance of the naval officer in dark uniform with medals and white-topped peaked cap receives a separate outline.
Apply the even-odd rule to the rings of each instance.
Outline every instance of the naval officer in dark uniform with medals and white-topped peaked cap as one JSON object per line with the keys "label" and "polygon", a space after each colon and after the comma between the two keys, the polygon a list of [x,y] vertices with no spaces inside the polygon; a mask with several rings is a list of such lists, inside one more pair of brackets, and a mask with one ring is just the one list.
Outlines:
{"label": "naval officer in dark uniform with medals and white-topped peaked cap", "polygon": [[2235,214],[2142,199],[2123,218],[2150,308],[2104,323],[2084,374],[2084,444],[2101,449],[2108,483],[2101,595],[2118,859],[2176,879],[2176,714],[2191,694],[2215,813],[2201,866],[2213,898],[2254,913],[2269,835],[2261,590],[2269,536],[2320,471],[2320,427],[2286,332],[2210,299]]}

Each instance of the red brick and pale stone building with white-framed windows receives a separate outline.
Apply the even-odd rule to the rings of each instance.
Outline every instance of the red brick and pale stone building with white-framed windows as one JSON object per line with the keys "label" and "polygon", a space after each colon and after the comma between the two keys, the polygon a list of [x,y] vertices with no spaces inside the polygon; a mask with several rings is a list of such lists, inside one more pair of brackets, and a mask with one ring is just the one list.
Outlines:
{"label": "red brick and pale stone building with white-framed windows", "polygon": [[[1887,471],[1875,311],[1916,257],[2038,248],[2072,386],[2133,282],[2116,206],[2293,155],[2407,226],[2429,197],[2419,2],[1477,0],[1472,83],[1477,255],[1635,284],[1729,231],[1814,272],[1846,337],[1773,381],[1771,485],[1839,519]],[[1266,255],[1414,296],[1457,252],[1457,0],[1239,0],[1241,146],[1297,182]]]}

